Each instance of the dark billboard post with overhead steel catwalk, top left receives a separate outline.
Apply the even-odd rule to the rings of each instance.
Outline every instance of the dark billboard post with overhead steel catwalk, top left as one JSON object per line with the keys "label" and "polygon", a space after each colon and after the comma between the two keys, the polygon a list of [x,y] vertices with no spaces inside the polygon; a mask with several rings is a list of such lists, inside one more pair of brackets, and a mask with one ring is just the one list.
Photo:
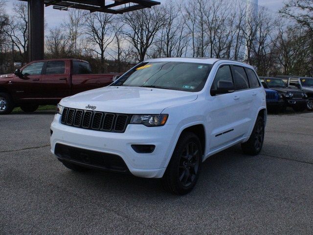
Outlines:
{"label": "dark billboard post with overhead steel catwalk, top left", "polygon": [[[28,2],[29,61],[44,58],[44,6],[123,14],[159,5],[154,0],[22,0]],[[107,3],[107,4],[106,4]]]}

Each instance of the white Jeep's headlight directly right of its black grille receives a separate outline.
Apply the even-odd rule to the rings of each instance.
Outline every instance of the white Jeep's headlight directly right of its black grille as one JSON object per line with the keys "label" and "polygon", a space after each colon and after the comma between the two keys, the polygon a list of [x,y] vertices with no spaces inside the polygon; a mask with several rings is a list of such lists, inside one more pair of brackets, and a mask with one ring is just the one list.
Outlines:
{"label": "white Jeep's headlight directly right of its black grille", "polygon": [[167,121],[167,114],[160,115],[133,115],[131,124],[143,124],[145,126],[163,126]]}

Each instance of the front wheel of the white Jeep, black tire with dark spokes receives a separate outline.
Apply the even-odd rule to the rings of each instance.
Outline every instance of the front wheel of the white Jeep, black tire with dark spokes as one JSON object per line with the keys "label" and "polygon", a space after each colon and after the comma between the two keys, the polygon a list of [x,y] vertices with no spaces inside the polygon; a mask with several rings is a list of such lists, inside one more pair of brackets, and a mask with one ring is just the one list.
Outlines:
{"label": "front wheel of the white Jeep, black tire with dark spokes", "polygon": [[163,187],[177,195],[190,192],[198,181],[201,164],[202,149],[198,136],[191,132],[183,133],[162,178]]}

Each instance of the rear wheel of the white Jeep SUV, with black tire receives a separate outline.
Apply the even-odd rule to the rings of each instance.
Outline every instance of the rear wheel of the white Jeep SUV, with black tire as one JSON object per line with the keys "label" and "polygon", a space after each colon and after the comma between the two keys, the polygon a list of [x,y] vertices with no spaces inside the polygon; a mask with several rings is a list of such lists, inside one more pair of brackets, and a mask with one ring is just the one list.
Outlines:
{"label": "rear wheel of the white Jeep SUV, with black tire", "polygon": [[248,141],[241,144],[241,148],[245,154],[258,155],[262,149],[264,142],[264,119],[259,116],[254,124],[251,136]]}

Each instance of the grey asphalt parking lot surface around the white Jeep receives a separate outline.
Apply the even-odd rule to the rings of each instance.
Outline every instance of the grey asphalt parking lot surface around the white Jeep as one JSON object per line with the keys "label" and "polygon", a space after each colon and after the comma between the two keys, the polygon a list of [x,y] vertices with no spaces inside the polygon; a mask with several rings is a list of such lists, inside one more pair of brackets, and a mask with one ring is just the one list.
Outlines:
{"label": "grey asphalt parking lot surface around the white Jeep", "polygon": [[0,117],[0,234],[312,234],[313,113],[269,115],[260,155],[211,157],[185,196],[68,170],[50,153],[53,115]]}

